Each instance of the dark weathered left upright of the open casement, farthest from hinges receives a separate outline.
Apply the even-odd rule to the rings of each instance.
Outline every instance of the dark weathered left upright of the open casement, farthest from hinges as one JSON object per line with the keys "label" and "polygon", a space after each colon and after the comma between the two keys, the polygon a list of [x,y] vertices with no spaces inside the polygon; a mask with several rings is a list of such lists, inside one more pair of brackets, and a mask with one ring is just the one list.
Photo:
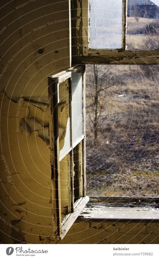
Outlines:
{"label": "dark weathered left upright of the open casement, farthest from hinges", "polygon": [[[51,192],[52,192],[52,223],[53,236],[61,234],[61,198],[60,198],[60,173],[59,173],[59,130],[58,130],[58,95],[57,82],[49,78],[49,135],[50,135],[50,162],[51,162]],[[55,141],[56,140],[56,141]]]}

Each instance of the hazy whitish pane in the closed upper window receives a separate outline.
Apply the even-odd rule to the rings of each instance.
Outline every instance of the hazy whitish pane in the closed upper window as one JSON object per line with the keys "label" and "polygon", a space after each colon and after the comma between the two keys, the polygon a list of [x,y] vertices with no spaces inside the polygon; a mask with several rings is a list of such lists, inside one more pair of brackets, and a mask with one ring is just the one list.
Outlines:
{"label": "hazy whitish pane in the closed upper window", "polygon": [[122,47],[122,0],[90,0],[90,48]]}

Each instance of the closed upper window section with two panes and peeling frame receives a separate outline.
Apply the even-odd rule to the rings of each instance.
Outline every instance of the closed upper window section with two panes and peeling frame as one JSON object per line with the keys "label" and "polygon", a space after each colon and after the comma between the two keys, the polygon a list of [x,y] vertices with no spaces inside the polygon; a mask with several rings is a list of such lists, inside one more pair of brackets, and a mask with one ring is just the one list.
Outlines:
{"label": "closed upper window section with two panes and peeling frame", "polygon": [[145,64],[145,58],[147,64],[159,63],[157,1],[141,5],[140,0],[74,0],[71,4],[73,64]]}

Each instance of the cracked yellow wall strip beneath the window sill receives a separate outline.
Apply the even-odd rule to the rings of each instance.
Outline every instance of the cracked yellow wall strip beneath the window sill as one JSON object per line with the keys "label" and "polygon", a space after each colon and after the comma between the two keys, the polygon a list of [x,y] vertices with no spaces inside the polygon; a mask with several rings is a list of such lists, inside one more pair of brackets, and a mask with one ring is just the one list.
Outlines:
{"label": "cracked yellow wall strip beneath the window sill", "polygon": [[158,244],[158,223],[76,221],[61,244]]}

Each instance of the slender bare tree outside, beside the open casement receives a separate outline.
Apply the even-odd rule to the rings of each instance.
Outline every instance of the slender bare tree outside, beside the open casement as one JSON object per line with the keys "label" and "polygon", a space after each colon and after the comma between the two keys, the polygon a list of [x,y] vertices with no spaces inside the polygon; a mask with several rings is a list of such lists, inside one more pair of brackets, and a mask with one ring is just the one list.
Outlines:
{"label": "slender bare tree outside, beside the open casement", "polygon": [[[96,141],[99,128],[100,118],[107,102],[112,95],[115,94],[117,88],[113,86],[111,81],[110,70],[114,65],[97,65],[89,66],[87,71],[88,81],[91,84],[90,103],[86,107],[89,116],[90,128],[94,134],[94,141]],[[112,88],[111,88],[112,87]]]}

